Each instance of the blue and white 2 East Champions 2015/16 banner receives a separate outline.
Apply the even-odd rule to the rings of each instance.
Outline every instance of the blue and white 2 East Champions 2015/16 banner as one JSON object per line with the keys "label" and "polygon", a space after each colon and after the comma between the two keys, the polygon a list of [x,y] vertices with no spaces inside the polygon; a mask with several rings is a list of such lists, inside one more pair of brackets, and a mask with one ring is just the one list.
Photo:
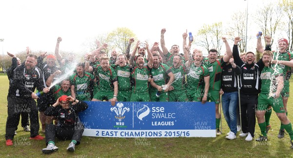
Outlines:
{"label": "blue and white 2 East Champions 2015/16 banner", "polygon": [[83,136],[216,137],[214,102],[86,103],[88,108],[79,113]]}

